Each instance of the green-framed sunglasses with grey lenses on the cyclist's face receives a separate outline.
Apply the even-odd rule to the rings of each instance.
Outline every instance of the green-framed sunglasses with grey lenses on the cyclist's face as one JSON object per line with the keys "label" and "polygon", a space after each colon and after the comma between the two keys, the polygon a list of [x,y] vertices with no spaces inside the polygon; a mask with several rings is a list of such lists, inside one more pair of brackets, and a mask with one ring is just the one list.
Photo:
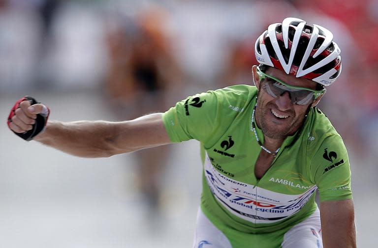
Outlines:
{"label": "green-framed sunglasses with grey lenses on the cyclist's face", "polygon": [[260,77],[260,82],[262,82],[262,80],[265,79],[264,84],[262,84],[261,87],[269,95],[273,97],[279,97],[283,95],[285,92],[288,92],[291,102],[297,105],[312,104],[319,96],[323,95],[326,91],[325,88],[321,90],[315,90],[305,87],[292,86],[262,72],[259,67],[257,67],[257,74]]}

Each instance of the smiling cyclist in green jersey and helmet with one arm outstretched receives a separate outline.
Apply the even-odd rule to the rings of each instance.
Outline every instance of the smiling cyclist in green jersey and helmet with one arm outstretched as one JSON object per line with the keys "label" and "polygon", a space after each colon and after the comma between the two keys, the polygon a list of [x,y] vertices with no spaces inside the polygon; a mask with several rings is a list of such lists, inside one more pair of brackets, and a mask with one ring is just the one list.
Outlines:
{"label": "smiling cyclist in green jersey and helmet with one arm outstretched", "polygon": [[81,157],[199,140],[203,192],[194,248],[355,248],[347,150],[315,107],[342,68],[332,33],[286,18],[261,34],[255,55],[255,86],[197,94],[165,113],[47,123],[50,110],[24,97],[8,126]]}

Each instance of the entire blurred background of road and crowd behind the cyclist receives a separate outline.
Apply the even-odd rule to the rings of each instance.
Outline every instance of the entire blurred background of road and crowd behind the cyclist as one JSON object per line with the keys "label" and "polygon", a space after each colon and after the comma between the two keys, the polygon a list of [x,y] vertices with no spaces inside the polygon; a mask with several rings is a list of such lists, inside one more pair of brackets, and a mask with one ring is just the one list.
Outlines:
{"label": "entire blurred background of road and crowd behind the cyclist", "polygon": [[6,127],[28,94],[51,119],[119,121],[251,84],[253,46],[294,16],[330,29],[343,73],[320,108],[349,151],[357,243],[377,246],[377,0],[0,0],[0,248],[189,248],[197,141],[82,159]]}

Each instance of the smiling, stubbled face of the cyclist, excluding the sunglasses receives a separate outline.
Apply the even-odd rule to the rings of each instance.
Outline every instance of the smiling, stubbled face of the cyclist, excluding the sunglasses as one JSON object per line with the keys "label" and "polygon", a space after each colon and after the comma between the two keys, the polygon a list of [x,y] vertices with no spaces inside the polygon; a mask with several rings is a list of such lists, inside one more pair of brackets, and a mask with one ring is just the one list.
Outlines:
{"label": "smiling, stubbled face of the cyclist, excluding the sunglasses", "polygon": [[[284,71],[273,67],[268,67],[265,73],[292,86],[316,88],[314,81],[287,75]],[[312,104],[296,105],[291,102],[288,92],[278,97],[269,95],[262,87],[266,79],[259,81],[256,67],[253,67],[253,75],[255,85],[259,90],[255,113],[257,125],[268,138],[283,139],[293,135],[301,127],[309,108],[315,106],[321,97]]]}

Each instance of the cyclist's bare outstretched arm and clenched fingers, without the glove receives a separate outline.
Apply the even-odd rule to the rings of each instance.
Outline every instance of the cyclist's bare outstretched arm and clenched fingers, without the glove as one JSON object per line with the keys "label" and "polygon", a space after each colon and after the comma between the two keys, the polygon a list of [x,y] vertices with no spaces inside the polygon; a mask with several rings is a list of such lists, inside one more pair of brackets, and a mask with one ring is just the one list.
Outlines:
{"label": "cyclist's bare outstretched arm and clenched fingers, without the glove", "polygon": [[[15,111],[9,128],[24,133],[31,128],[42,104],[23,101]],[[149,114],[123,122],[108,121],[49,121],[34,140],[79,157],[110,157],[143,148],[169,144],[161,113]]]}

